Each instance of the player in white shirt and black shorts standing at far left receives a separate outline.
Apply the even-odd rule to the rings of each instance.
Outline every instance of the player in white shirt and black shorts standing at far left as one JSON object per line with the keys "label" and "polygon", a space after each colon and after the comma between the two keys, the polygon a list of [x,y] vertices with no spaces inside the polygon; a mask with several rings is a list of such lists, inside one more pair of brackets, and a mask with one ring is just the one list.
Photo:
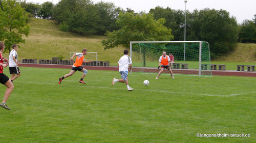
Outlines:
{"label": "player in white shirt and black shorts standing at far left", "polygon": [[20,70],[18,68],[18,54],[17,54],[17,50],[18,50],[18,45],[17,44],[13,44],[12,45],[12,50],[10,52],[9,55],[9,71],[11,74],[11,81],[13,82],[14,79],[18,78],[20,76]]}

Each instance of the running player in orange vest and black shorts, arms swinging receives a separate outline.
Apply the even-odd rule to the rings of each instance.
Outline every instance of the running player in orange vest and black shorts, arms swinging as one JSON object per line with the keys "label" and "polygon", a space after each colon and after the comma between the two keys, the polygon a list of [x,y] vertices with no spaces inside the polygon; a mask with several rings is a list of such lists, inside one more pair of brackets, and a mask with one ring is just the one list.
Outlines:
{"label": "running player in orange vest and black shorts, arms swinging", "polygon": [[83,67],[81,67],[81,65],[82,65],[82,63],[90,63],[90,62],[92,62],[92,60],[91,60],[91,61],[86,61],[86,59],[84,59],[84,56],[83,56],[83,55],[86,55],[86,54],[87,54],[87,49],[82,49],[82,52],[81,52],[81,53],[78,52],[78,53],[74,53],[74,54],[73,54],[73,56],[72,56],[70,59],[73,60],[74,57],[77,55],[77,57],[76,57],[76,62],[73,64],[70,73],[68,73],[68,74],[64,75],[63,77],[60,77],[60,78],[59,78],[59,84],[61,83],[61,81],[62,81],[64,78],[67,78],[67,77],[73,75],[76,71],[81,71],[81,72],[83,72],[82,77],[81,77],[81,79],[79,80],[79,82],[80,82],[80,83],[86,83],[86,82],[83,81],[83,78],[86,76],[87,70],[84,69]]}

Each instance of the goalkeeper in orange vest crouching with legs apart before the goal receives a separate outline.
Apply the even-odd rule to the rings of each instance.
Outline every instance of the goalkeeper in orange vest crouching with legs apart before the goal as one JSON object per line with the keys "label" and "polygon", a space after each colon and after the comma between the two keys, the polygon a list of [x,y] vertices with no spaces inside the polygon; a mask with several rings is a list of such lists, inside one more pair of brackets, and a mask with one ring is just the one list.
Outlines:
{"label": "goalkeeper in orange vest crouching with legs apart before the goal", "polygon": [[174,78],[173,71],[170,69],[169,64],[170,64],[170,58],[169,58],[169,56],[166,55],[166,52],[164,51],[163,55],[161,55],[159,58],[158,69],[161,66],[161,70],[159,71],[156,79],[158,79],[158,77],[161,75],[161,73],[163,72],[164,69],[167,69],[170,72],[170,75],[172,75],[172,78]]}

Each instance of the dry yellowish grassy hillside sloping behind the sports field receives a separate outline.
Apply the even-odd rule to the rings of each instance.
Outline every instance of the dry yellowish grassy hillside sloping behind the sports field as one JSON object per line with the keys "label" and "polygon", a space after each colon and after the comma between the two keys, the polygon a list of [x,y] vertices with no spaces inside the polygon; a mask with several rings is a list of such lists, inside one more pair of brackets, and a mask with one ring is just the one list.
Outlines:
{"label": "dry yellowish grassy hillside sloping behind the sports field", "polygon": [[[97,52],[98,61],[109,61],[112,64],[117,63],[123,55],[124,47],[122,46],[103,49],[100,41],[106,38],[105,36],[61,32],[53,20],[31,18],[29,24],[31,25],[30,34],[24,37],[25,44],[19,44],[18,60],[52,59],[52,57],[59,56],[69,59],[70,52],[81,52],[82,48],[87,48],[88,52]],[[8,56],[8,53],[4,54],[4,57]],[[91,55],[86,57],[87,60],[91,58]],[[256,63],[256,44],[238,44],[234,51],[214,62]]]}

